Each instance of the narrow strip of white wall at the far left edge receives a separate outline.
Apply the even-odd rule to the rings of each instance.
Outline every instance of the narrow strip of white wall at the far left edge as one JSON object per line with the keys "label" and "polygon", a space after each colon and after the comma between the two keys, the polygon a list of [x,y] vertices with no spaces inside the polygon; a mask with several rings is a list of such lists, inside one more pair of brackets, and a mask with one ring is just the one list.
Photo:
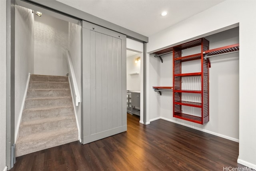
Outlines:
{"label": "narrow strip of white wall at the far left edge", "polygon": [[0,0],[0,171],[6,167],[6,1]]}

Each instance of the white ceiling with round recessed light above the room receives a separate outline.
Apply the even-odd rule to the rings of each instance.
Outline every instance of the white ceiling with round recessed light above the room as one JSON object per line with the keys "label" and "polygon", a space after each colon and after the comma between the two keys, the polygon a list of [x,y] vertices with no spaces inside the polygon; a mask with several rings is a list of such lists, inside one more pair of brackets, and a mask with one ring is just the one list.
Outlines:
{"label": "white ceiling with round recessed light above the room", "polygon": [[58,1],[149,37],[224,0]]}

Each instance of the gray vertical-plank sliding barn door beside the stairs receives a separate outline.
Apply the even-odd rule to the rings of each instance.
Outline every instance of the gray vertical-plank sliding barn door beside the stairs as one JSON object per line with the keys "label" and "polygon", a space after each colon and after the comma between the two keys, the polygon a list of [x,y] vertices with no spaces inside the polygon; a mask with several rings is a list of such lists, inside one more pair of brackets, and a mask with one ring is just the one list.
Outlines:
{"label": "gray vertical-plank sliding barn door beside the stairs", "polygon": [[127,130],[126,36],[84,22],[83,144]]}

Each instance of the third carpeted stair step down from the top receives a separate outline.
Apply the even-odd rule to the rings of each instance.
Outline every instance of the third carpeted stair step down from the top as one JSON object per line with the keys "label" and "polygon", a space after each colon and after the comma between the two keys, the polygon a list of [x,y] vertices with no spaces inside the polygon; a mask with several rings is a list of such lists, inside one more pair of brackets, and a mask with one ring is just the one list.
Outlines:
{"label": "third carpeted stair step down from the top", "polygon": [[70,96],[70,89],[28,89],[27,97]]}

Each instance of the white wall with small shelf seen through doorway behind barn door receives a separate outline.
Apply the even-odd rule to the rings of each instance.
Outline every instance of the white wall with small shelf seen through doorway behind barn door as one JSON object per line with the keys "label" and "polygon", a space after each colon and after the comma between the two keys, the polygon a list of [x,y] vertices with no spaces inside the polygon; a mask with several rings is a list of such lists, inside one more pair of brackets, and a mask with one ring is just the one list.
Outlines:
{"label": "white wall with small shelf seen through doorway behind barn door", "polygon": [[[137,64],[135,63],[135,58],[140,57],[140,54],[130,56],[126,58],[126,89],[131,91],[140,91],[140,64],[141,61]],[[131,73],[139,73],[130,75]]]}

